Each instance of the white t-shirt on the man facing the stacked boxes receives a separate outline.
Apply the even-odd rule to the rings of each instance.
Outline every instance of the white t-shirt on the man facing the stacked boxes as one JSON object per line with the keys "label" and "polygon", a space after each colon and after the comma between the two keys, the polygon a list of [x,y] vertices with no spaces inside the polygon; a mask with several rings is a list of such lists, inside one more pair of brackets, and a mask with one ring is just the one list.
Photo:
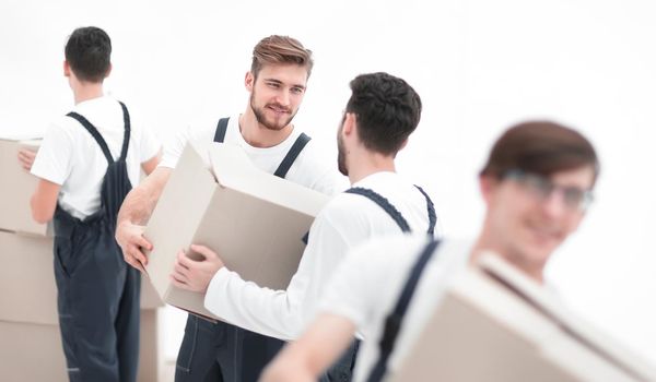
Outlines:
{"label": "white t-shirt on the man facing the stacked boxes", "polygon": [[[140,166],[160,151],[160,142],[130,115],[130,143],[126,157],[132,187],[139,183]],[[72,111],[86,118],[101,133],[114,159],[124,143],[125,123],[120,104],[110,96],[82,102]],[[32,174],[60,184],[59,205],[78,218],[85,218],[101,206],[101,186],[107,171],[107,159],[93,136],[78,120],[61,116],[48,127],[38,150]]]}

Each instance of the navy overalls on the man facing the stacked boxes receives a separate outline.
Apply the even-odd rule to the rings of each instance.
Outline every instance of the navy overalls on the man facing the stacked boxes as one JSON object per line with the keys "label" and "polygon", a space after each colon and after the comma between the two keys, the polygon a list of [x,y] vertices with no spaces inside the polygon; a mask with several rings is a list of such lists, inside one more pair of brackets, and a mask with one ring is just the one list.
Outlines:
{"label": "navy overalls on the man facing the stacked boxes", "polygon": [[58,205],[54,217],[57,308],[72,382],[137,380],[140,275],[114,239],[118,208],[131,189],[126,168],[130,116],[120,106],[125,135],[117,160],[86,118],[68,114],[93,135],[108,164],[97,212],[81,220]]}

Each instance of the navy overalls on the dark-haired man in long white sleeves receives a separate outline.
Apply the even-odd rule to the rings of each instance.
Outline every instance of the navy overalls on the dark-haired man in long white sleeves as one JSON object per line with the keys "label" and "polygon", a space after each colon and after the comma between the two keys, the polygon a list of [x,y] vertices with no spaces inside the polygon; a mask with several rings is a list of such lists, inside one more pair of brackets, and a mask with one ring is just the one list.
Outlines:
{"label": "navy overalls on the dark-haired man in long white sleeves", "polygon": [[[424,195],[426,199],[426,210],[429,213],[429,229],[427,234],[432,237],[435,230],[435,223],[437,220],[435,216],[435,206],[433,205],[433,201],[431,198],[424,192],[424,190],[415,186],[417,189]],[[364,189],[361,187],[354,187],[344,191],[347,193],[354,193],[359,195],[363,195],[374,203],[378,204],[380,208],[383,208],[399,226],[401,231],[410,232],[410,225],[408,220],[403,217],[403,215],[383,195],[374,192],[370,189]],[[340,358],[335,362],[324,375],[320,378],[320,382],[349,382],[353,378],[353,370],[355,368],[355,361],[358,358],[358,349],[360,347],[360,341],[355,339],[349,346],[349,348],[340,356]]]}

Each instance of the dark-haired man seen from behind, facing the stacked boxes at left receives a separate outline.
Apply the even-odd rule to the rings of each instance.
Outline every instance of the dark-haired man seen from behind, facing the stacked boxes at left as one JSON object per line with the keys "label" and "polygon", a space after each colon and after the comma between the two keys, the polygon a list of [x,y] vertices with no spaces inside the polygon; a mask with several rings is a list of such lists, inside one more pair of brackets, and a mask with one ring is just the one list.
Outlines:
{"label": "dark-haired man seen from behind, facing the stacked boxes at left", "polygon": [[65,49],[63,73],[75,107],[56,119],[32,163],[39,179],[32,214],[54,220],[55,278],[61,339],[71,381],[134,381],[139,355],[139,272],[121,260],[114,239],[118,207],[160,160],[160,143],[106,96],[112,70],[109,36],[75,29]]}

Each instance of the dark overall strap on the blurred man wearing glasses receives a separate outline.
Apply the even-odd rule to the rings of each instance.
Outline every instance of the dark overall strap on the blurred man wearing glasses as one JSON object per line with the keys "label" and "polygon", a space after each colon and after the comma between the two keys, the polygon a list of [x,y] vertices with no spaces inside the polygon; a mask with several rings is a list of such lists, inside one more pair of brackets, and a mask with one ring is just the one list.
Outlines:
{"label": "dark overall strap on the blurred man wearing glasses", "polygon": [[385,373],[387,372],[387,360],[394,350],[394,346],[399,334],[399,330],[401,329],[401,324],[403,321],[403,317],[408,310],[408,306],[410,305],[410,300],[412,299],[412,295],[414,294],[414,289],[417,288],[417,284],[419,283],[419,278],[423,270],[425,268],[429,260],[435,253],[435,249],[440,246],[440,241],[431,241],[429,242],[417,262],[412,267],[410,276],[406,280],[406,285],[403,286],[403,290],[401,291],[401,296],[397,300],[397,303],[394,308],[394,311],[387,315],[385,319],[385,327],[383,330],[383,337],[379,342],[379,355],[376,365],[372,369],[372,372],[367,379],[367,382],[378,382],[383,380]]}

